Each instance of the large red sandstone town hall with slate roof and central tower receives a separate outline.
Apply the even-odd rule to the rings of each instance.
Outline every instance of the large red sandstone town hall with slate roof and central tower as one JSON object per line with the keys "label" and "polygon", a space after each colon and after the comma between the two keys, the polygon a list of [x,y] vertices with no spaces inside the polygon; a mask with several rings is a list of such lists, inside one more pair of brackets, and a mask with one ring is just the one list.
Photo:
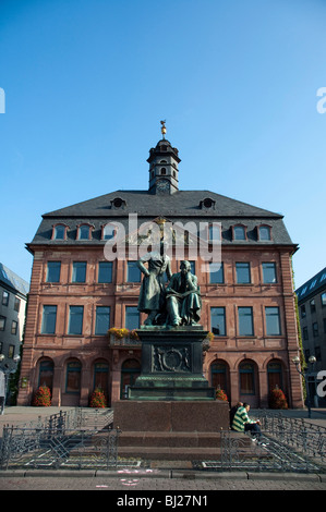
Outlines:
{"label": "large red sandstone town hall with slate roof and central tower", "polygon": [[[144,222],[191,222],[195,233],[173,229],[171,266],[177,272],[189,259],[198,279],[201,324],[214,334],[204,352],[205,377],[230,403],[268,406],[278,386],[290,406],[302,406],[291,363],[299,352],[291,269],[297,245],[282,216],[212,191],[180,190],[179,151],[162,133],[149,150],[147,190],[110,192],[48,212],[27,244],[34,264],[19,404],[31,404],[41,383],[50,387],[55,405],[87,406],[98,386],[110,405],[126,398],[142,357],[133,330],[146,318],[137,309],[142,276],[131,241],[142,243]],[[108,260],[106,243],[119,229],[125,257]],[[221,246],[220,266],[193,256],[203,229],[210,248]],[[182,256],[176,253],[180,236]],[[131,334],[108,336],[109,328]]]}

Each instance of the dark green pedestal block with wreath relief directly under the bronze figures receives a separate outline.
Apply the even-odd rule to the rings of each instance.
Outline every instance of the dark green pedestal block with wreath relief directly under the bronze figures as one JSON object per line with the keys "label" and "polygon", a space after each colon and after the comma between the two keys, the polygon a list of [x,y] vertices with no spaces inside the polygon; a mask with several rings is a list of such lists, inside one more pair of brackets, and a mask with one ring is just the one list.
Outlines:
{"label": "dark green pedestal block with wreath relief directly under the bronze figures", "polygon": [[130,400],[215,400],[215,389],[203,376],[203,340],[207,331],[201,326],[144,327],[137,333],[142,341],[142,373],[129,390]]}

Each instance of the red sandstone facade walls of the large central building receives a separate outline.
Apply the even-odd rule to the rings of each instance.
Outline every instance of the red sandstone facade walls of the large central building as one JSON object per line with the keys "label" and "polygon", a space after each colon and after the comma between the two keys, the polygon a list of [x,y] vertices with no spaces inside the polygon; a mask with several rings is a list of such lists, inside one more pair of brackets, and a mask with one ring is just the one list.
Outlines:
{"label": "red sandstone facade walls of the large central building", "polygon": [[[196,276],[203,298],[202,321],[210,326],[210,308],[225,307],[226,333],[216,336],[204,354],[205,377],[220,386],[231,403],[239,400],[254,407],[268,406],[270,387],[277,383],[285,391],[289,405],[302,406],[299,375],[291,358],[298,354],[297,324],[291,277],[291,247],[273,249],[222,249],[225,283],[210,284],[209,273]],[[61,260],[59,283],[46,282],[48,260]],[[86,260],[86,282],[71,283],[72,261]],[[133,382],[141,366],[137,342],[123,344],[108,336],[95,336],[96,306],[110,306],[110,326],[125,325],[125,306],[136,306],[140,284],[126,282],[126,261],[113,261],[112,282],[97,283],[98,261],[102,247],[37,247],[34,255],[19,404],[29,404],[44,378],[52,389],[53,405],[87,406],[96,382],[105,382],[109,404],[124,398],[124,387]],[[251,283],[237,284],[236,263],[251,264]],[[263,283],[262,263],[276,264],[277,282]],[[179,265],[172,261],[172,271]],[[43,306],[57,306],[55,334],[41,333]],[[82,336],[68,334],[69,306],[83,305]],[[252,307],[253,336],[239,334],[239,307]],[[267,336],[265,307],[279,307],[280,334]],[[145,317],[141,316],[141,324]],[[75,375],[73,375],[75,364]],[[45,368],[45,369],[44,369]],[[68,371],[80,379],[69,391]],[[43,376],[40,376],[43,374]],[[99,378],[97,381],[96,379]],[[104,386],[102,386],[104,387]]]}

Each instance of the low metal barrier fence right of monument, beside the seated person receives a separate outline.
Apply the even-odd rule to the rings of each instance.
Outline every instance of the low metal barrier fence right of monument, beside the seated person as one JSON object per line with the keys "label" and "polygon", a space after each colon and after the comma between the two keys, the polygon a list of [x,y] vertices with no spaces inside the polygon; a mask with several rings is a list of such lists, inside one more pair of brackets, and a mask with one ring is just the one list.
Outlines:
{"label": "low metal barrier fence right of monument, beside the seated person", "polygon": [[[221,432],[221,458],[216,468],[326,473],[325,427],[266,410],[258,411],[255,419],[262,429],[257,441],[252,441],[250,434]],[[213,464],[206,462],[205,467]]]}

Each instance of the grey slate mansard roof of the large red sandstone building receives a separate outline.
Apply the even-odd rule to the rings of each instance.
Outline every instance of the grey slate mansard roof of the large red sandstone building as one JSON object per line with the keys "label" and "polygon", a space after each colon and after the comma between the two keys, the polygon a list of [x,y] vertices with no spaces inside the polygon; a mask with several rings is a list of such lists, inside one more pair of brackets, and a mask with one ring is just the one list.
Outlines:
{"label": "grey slate mansard roof of the large red sandstone building", "polygon": [[[118,197],[124,202],[122,208],[114,208],[111,204],[111,202]],[[214,208],[202,208],[200,206],[201,202],[208,197],[214,202]],[[114,220],[123,223],[128,228],[129,214],[137,214],[138,223],[150,221],[157,217],[165,217],[171,222],[177,220],[184,223],[194,221],[197,224],[203,221],[221,222],[222,244],[293,245],[283,224],[281,215],[241,203],[210,191],[178,191],[171,195],[152,194],[148,191],[111,192],[45,214],[32,244],[102,244],[104,241],[100,240],[101,225],[110,222],[110,220]],[[68,240],[65,241],[50,240],[52,225],[58,222],[63,222],[69,225]],[[89,222],[94,225],[92,240],[89,241],[75,240],[76,225],[82,222]],[[232,241],[230,228],[237,223],[243,223],[247,227],[246,241]],[[257,225],[264,223],[271,227],[273,240],[270,242],[259,242],[257,240]]]}

